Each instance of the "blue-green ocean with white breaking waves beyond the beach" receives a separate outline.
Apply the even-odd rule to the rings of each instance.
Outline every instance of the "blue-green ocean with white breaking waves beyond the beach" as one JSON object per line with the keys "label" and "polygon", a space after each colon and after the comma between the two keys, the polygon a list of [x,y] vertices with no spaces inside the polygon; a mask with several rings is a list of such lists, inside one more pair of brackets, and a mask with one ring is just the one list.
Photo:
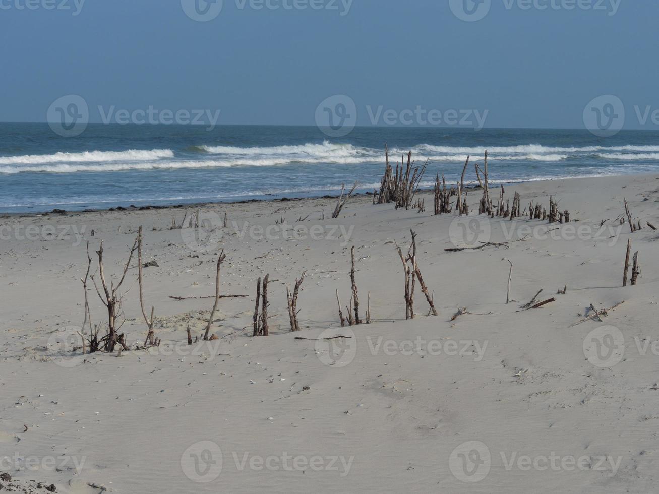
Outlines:
{"label": "blue-green ocean with white breaking waves beyond the beach", "polygon": [[[48,124],[0,123],[0,211],[76,211],[337,194],[379,186],[384,146],[391,161],[413,151],[436,173],[459,180],[467,155],[490,179],[523,182],[659,173],[659,132],[357,127],[329,138],[313,126],[90,124],[76,137]],[[470,166],[469,181],[475,180]]]}

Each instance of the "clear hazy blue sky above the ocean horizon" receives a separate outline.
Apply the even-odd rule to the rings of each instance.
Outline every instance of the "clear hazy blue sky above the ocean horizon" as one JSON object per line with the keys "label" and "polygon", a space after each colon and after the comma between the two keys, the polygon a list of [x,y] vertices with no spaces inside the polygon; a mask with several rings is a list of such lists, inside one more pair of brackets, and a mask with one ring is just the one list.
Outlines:
{"label": "clear hazy blue sky above the ocean horizon", "polygon": [[341,95],[359,125],[583,128],[610,95],[625,128],[659,128],[656,1],[217,1],[0,0],[0,121],[76,95],[92,122],[312,125]]}

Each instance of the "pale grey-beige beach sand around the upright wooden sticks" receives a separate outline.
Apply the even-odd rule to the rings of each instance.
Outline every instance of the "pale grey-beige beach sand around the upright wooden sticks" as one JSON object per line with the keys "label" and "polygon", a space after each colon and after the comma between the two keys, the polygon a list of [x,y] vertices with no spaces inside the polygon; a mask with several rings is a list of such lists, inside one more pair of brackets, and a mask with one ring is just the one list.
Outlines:
{"label": "pale grey-beige beach sand around the upright wooden sticks", "polygon": [[[434,216],[427,192],[424,213],[358,196],[339,219],[329,198],[0,218],[0,472],[63,493],[655,491],[659,232],[646,221],[659,226],[659,178],[505,186],[515,191],[522,209],[553,196],[571,222]],[[620,224],[624,198],[641,231]],[[210,228],[169,229],[197,209]],[[158,263],[144,268],[144,300],[161,346],[82,355],[86,242],[95,271],[103,241],[116,283],[140,226],[143,262]],[[406,321],[393,242],[407,250],[411,229],[440,314],[426,316],[417,286]],[[642,276],[623,288],[630,238]],[[509,243],[445,251],[478,242]],[[345,313],[353,246],[372,323],[342,328],[335,290]],[[221,294],[247,297],[220,300],[219,340],[188,346],[213,300],[169,297],[214,295],[222,248]],[[146,337],[136,266],[122,287],[130,346]],[[302,271],[291,333],[286,287]],[[270,337],[254,338],[266,273]],[[538,302],[556,300],[523,311],[540,289]],[[88,296],[93,322],[107,321],[92,283]],[[575,325],[590,304],[623,301]],[[461,308],[471,314],[451,321]]]}

